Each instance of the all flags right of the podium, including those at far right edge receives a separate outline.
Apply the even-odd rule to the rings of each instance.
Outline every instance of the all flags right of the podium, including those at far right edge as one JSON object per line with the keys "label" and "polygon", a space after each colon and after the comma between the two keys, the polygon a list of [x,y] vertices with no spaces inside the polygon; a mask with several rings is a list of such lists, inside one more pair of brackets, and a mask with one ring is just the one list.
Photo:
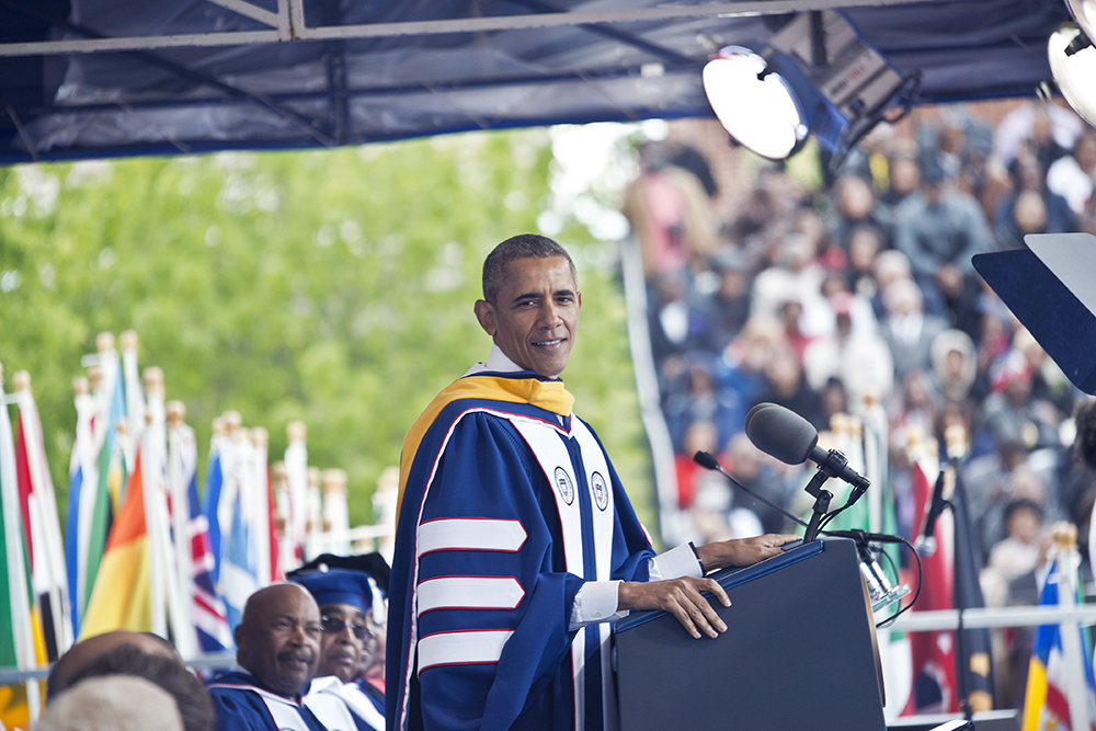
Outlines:
{"label": "all flags right of the podium, including those at far right edge", "polygon": [[[911,433],[909,487],[912,495],[912,535],[918,547],[922,574],[912,560],[900,569],[894,552],[883,562],[892,583],[920,586],[914,612],[979,608],[984,606],[979,573],[978,536],[972,529],[962,482],[967,434],[949,429],[946,458],[935,441]],[[866,499],[840,514],[827,527],[859,528],[895,534],[894,487],[887,465],[888,425],[878,404],[868,403],[861,419],[837,420],[825,437],[826,446],[848,457],[849,466],[871,480]],[[846,486],[827,484],[835,505],[844,504]],[[934,500],[951,514],[932,521]],[[1054,548],[1041,580],[1040,605],[1072,607],[1083,603],[1081,558],[1076,528],[1055,526]],[[877,619],[881,618],[877,613]],[[987,629],[963,628],[911,632],[879,632],[879,649],[887,676],[888,717],[916,713],[957,713],[993,708],[993,663]],[[960,663],[959,660],[962,660]],[[1076,621],[1036,628],[1028,669],[1021,731],[1096,731],[1096,681],[1093,643],[1086,627]]]}

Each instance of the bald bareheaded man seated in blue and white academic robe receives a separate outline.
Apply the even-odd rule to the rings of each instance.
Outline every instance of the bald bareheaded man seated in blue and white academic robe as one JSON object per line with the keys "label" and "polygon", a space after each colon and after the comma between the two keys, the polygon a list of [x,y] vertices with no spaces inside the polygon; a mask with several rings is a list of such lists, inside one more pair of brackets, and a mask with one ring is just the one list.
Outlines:
{"label": "bald bareheaded man seated in blue and white academic robe", "polygon": [[[331,704],[330,728],[304,704],[320,659],[320,608],[294,583],[272,584],[248,598],[236,628],[236,662],[209,685],[218,731],[356,731],[343,704]],[[340,713],[341,706],[341,713]]]}

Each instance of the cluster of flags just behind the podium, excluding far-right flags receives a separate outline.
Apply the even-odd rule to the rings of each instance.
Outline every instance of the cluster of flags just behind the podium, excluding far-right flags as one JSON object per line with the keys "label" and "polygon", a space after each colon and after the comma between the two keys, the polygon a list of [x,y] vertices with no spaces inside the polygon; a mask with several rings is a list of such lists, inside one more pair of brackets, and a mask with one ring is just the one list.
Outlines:
{"label": "cluster of flags just behind the podium, excluding far-right flags", "polygon": [[[871,481],[871,488],[852,507],[840,513],[827,529],[860,529],[876,534],[898,535],[899,526],[895,486],[889,464],[889,439],[892,436],[882,404],[868,400],[860,416],[842,415],[831,424],[831,431],[820,443],[835,448],[848,458],[854,468]],[[902,435],[900,435],[902,436]],[[897,544],[877,547],[882,571],[891,586],[907,584],[911,590],[905,603],[920,595],[913,612],[954,609],[957,606],[984,606],[979,586],[979,552],[977,536],[966,512],[962,482],[956,466],[966,450],[966,435],[952,433],[946,459],[940,459],[937,444],[924,436],[917,425],[905,430],[907,439],[909,517],[903,535],[922,553],[923,574],[918,575],[913,559],[899,550]],[[844,505],[849,486],[831,480],[826,489],[834,493],[831,507]],[[934,494],[952,506],[954,517],[945,516],[935,524],[928,521]],[[918,540],[932,526],[931,540]],[[920,584],[920,586],[918,586]],[[961,602],[961,605],[957,602]],[[880,607],[876,619],[882,620],[894,608]],[[957,673],[957,649],[962,646],[967,662]],[[917,713],[954,713],[966,699],[974,710],[993,708],[993,677],[990,656],[990,635],[985,629],[955,631],[902,632],[882,627],[878,631],[880,661],[887,688],[888,718]],[[961,690],[961,692],[960,692]]]}

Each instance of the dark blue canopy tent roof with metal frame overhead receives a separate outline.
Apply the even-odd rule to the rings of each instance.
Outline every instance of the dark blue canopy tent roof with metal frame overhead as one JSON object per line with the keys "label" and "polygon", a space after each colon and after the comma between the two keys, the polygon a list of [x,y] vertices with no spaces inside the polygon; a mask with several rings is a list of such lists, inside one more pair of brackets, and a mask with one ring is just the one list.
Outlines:
{"label": "dark blue canopy tent roof with metal frame overhead", "polygon": [[710,116],[700,70],[843,9],[918,103],[1029,95],[1060,0],[0,0],[0,163]]}

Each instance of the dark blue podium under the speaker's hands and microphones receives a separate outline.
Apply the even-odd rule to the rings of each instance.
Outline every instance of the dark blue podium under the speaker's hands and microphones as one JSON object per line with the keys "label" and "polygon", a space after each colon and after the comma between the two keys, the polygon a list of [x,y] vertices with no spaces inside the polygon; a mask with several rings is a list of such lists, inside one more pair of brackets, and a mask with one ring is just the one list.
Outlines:
{"label": "dark blue podium under the speaker's hands and microphones", "polygon": [[856,545],[815,540],[711,576],[727,631],[693,639],[664,612],[617,623],[620,727],[886,731],[875,624]]}

